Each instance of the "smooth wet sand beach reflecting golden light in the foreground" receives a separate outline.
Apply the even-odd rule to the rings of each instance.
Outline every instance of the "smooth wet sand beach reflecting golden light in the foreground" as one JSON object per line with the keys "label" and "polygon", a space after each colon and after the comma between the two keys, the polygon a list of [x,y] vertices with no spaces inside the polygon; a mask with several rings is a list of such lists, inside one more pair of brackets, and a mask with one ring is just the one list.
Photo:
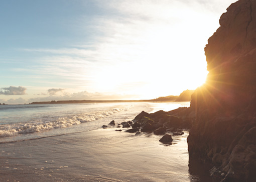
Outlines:
{"label": "smooth wet sand beach reflecting golden light in the foreground", "polygon": [[197,181],[188,172],[188,132],[166,146],[161,135],[114,130],[1,143],[1,181]]}

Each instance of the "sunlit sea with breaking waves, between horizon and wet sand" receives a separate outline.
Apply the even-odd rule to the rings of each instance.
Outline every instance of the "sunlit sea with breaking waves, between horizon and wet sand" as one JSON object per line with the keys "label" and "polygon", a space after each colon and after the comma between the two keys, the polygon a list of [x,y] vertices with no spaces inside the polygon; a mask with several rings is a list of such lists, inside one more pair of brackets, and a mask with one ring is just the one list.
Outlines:
{"label": "sunlit sea with breaking waves, between horizon and wet sand", "polygon": [[0,143],[88,131],[108,121],[128,121],[141,111],[189,106],[189,102],[117,102],[0,105]]}

